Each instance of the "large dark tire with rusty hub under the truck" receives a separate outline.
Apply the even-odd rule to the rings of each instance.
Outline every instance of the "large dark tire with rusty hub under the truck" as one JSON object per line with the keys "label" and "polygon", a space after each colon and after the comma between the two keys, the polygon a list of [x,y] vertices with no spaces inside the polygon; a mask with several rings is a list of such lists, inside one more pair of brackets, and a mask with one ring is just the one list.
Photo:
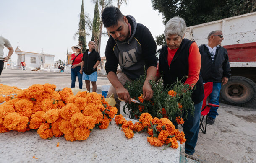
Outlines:
{"label": "large dark tire with rusty hub under the truck", "polygon": [[235,106],[248,106],[256,100],[256,84],[242,76],[232,76],[222,85],[220,95],[224,103]]}

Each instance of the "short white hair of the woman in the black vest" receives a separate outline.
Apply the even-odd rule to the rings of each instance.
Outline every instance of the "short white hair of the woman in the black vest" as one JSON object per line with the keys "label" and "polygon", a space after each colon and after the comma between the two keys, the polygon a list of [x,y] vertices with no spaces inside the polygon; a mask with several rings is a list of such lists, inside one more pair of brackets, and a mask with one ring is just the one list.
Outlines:
{"label": "short white hair of the woman in the black vest", "polygon": [[171,18],[165,25],[165,37],[171,34],[183,37],[186,31],[186,23],[183,18],[175,16]]}

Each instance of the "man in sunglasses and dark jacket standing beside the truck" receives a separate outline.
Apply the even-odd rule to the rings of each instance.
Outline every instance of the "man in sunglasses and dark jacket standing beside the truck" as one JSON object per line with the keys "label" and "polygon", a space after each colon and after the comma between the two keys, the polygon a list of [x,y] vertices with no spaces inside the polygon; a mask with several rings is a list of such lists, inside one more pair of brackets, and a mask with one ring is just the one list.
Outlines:
{"label": "man in sunglasses and dark jacket standing beside the truck", "polygon": [[[224,39],[222,31],[212,31],[208,35],[208,44],[199,46],[202,58],[201,76],[204,83],[213,82],[212,93],[209,96],[209,103],[219,105],[219,93],[221,84],[227,83],[230,77],[230,64],[228,61],[227,50],[220,46]],[[207,124],[214,124],[218,107],[211,107]]]}

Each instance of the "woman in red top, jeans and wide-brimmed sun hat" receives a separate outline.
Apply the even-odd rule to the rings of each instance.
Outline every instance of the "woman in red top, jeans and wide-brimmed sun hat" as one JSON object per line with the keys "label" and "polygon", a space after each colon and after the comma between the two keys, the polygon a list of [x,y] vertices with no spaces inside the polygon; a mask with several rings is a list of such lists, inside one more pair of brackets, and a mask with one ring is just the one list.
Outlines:
{"label": "woman in red top, jeans and wide-brimmed sun hat", "polygon": [[79,88],[82,89],[83,81],[82,81],[82,74],[80,74],[81,69],[81,62],[83,58],[82,47],[81,44],[71,47],[72,50],[76,53],[71,54],[69,62],[71,62],[71,88],[75,87],[76,84],[76,76],[78,77],[79,81]]}

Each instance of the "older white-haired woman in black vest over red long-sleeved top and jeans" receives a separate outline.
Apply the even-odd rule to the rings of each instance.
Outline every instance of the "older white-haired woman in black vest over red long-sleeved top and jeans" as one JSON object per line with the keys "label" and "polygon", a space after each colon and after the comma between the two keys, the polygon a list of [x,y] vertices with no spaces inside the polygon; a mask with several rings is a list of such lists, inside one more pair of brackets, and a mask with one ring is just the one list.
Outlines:
{"label": "older white-haired woman in black vest over red long-sleeved top and jeans", "polygon": [[[183,130],[185,133],[185,153],[193,155],[195,152],[199,133],[201,107],[204,99],[204,85],[200,76],[201,55],[196,42],[184,39],[186,23],[183,18],[174,17],[165,26],[166,45],[162,47],[159,55],[159,65],[155,80],[161,75],[164,85],[172,85],[177,80],[183,79],[184,84],[191,85],[193,89],[194,116],[188,113]],[[183,78],[188,76],[188,78]],[[175,124],[175,123],[174,123]],[[175,125],[177,128],[177,124]]]}

